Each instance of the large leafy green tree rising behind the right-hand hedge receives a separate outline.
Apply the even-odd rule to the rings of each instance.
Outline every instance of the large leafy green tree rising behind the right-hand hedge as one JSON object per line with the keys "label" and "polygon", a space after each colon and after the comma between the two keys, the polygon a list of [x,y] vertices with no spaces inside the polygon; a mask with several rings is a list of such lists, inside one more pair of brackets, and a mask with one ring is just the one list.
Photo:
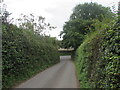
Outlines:
{"label": "large leafy green tree rising behind the right-hand hedge", "polygon": [[60,36],[63,36],[62,43],[64,47],[77,49],[85,36],[95,30],[93,24],[96,19],[101,22],[104,18],[114,18],[110,8],[97,3],[77,5],[70,16],[70,20],[64,24],[63,31],[60,34]]}

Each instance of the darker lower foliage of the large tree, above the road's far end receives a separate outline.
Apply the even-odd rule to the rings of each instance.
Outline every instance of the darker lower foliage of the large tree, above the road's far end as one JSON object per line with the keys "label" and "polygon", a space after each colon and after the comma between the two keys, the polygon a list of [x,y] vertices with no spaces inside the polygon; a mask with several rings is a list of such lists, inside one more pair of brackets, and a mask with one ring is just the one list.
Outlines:
{"label": "darker lower foliage of the large tree, above the road's far end", "polygon": [[[90,32],[89,27],[94,21],[88,20],[71,20],[66,22],[63,27],[63,46],[65,48],[74,47],[75,49],[78,48],[80,43],[82,43],[84,39],[84,35]],[[68,39],[69,38],[69,39]]]}

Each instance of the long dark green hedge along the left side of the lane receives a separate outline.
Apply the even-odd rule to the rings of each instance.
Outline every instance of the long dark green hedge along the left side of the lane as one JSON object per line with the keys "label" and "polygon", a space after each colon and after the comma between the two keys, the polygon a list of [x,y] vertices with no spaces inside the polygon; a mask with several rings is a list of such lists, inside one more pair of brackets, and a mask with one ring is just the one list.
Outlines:
{"label": "long dark green hedge along the left side of the lane", "polygon": [[9,88],[59,62],[56,41],[15,25],[2,26],[2,84]]}

